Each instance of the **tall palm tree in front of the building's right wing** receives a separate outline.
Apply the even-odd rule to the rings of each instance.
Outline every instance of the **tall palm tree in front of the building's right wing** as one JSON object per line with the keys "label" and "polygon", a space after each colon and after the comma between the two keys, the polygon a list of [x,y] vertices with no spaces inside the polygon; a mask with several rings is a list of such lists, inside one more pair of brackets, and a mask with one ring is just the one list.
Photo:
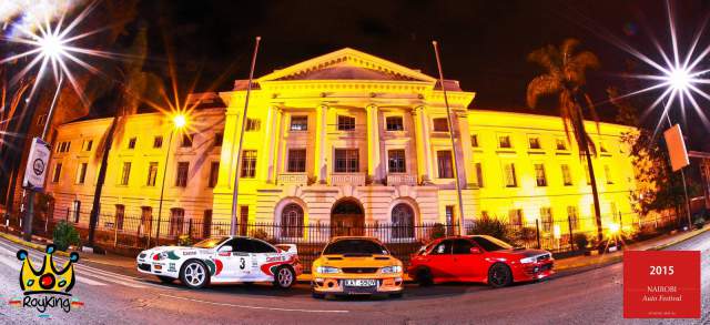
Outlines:
{"label": "tall palm tree in front of the building's right wing", "polygon": [[567,141],[571,142],[570,138],[574,135],[579,146],[580,160],[582,156],[587,159],[587,170],[595,202],[597,240],[598,243],[601,243],[599,193],[591,163],[591,155],[596,155],[597,151],[594,141],[585,130],[584,118],[586,106],[588,113],[597,122],[597,131],[599,131],[599,119],[585,88],[586,72],[590,69],[597,69],[599,59],[590,51],[576,51],[578,45],[578,40],[567,39],[559,48],[548,44],[528,54],[528,61],[541,65],[547,71],[528,83],[527,103],[530,108],[535,108],[541,97],[556,95],[558,98],[559,115],[565,125]]}

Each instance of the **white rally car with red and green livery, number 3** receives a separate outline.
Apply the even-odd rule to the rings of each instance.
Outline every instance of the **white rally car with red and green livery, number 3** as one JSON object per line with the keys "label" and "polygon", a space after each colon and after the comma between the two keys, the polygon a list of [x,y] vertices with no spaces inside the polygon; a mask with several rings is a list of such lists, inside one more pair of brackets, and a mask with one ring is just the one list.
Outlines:
{"label": "white rally car with red and green livery, number 3", "polygon": [[191,288],[210,283],[273,282],[287,288],[303,268],[296,245],[274,246],[245,236],[204,240],[192,246],[159,246],[141,252],[138,271],[162,282],[180,278]]}

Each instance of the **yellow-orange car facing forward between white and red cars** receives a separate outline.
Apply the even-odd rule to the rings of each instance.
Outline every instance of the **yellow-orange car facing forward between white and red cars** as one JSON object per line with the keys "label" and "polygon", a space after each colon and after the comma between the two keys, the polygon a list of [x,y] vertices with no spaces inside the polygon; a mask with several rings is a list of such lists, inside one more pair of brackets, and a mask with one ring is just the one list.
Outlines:
{"label": "yellow-orange car facing forward between white and red cars", "polygon": [[313,297],[326,295],[402,296],[402,262],[377,238],[335,237],[313,262]]}

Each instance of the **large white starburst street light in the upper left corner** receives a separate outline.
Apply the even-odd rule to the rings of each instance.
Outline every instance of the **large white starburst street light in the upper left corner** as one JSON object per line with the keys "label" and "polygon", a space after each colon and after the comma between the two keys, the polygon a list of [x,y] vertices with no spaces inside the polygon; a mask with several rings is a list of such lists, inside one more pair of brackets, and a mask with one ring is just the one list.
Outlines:
{"label": "large white starburst street light in the upper left corner", "polygon": [[60,80],[61,78],[67,78],[81,101],[88,105],[89,101],[81,91],[77,75],[72,72],[73,65],[79,65],[89,72],[97,74],[100,73],[99,70],[84,61],[82,57],[113,58],[113,54],[110,52],[77,45],[79,40],[104,30],[98,29],[83,33],[77,32],[77,27],[87,19],[95,7],[97,2],[87,6],[69,23],[64,23],[64,18],[67,17],[65,11],[60,16],[57,22],[52,22],[50,16],[26,16],[24,19],[31,19],[33,21],[33,28],[28,27],[27,23],[16,23],[13,27],[19,31],[18,35],[0,35],[0,40],[16,43],[18,48],[27,48],[23,52],[12,54],[0,60],[0,64],[13,62],[19,59],[29,60],[29,63],[14,75],[11,82],[18,82],[39,67],[36,82],[32,85],[32,90],[29,95],[29,98],[33,98],[37,85],[44,78],[48,70],[51,69],[54,79]]}

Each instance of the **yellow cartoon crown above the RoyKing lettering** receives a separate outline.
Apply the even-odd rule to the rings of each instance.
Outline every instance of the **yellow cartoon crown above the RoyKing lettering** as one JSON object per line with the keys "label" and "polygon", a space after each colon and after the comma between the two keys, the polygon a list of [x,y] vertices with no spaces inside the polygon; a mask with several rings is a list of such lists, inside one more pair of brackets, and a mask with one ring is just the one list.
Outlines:
{"label": "yellow cartoon crown above the RoyKing lettering", "polygon": [[68,295],[74,286],[74,266],[73,263],[79,261],[79,254],[72,252],[69,261],[60,270],[57,270],[52,254],[57,251],[57,246],[47,245],[44,262],[40,270],[36,270],[30,261],[30,255],[24,250],[18,252],[18,258],[22,261],[22,270],[20,271],[20,288],[26,295],[31,294],[61,294]]}

